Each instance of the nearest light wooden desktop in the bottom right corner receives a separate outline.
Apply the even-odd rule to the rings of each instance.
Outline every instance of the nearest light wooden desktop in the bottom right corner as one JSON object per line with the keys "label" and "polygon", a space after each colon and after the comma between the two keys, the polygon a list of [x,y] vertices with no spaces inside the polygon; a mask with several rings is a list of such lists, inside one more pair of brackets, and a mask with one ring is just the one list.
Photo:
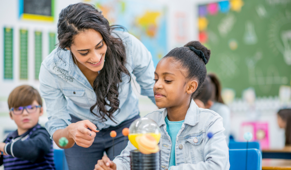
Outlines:
{"label": "nearest light wooden desktop in the bottom right corner", "polygon": [[291,170],[291,160],[262,159],[262,170]]}

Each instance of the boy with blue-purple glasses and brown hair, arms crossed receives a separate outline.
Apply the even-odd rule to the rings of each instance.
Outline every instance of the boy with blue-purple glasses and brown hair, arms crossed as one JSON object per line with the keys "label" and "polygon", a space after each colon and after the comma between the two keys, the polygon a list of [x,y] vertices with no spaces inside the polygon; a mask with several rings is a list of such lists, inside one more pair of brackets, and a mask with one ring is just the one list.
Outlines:
{"label": "boy with blue-purple glasses and brown hair, arms crossed", "polygon": [[0,142],[0,165],[5,170],[55,170],[52,140],[38,124],[43,115],[38,91],[29,85],[18,86],[10,93],[8,106],[17,130]]}

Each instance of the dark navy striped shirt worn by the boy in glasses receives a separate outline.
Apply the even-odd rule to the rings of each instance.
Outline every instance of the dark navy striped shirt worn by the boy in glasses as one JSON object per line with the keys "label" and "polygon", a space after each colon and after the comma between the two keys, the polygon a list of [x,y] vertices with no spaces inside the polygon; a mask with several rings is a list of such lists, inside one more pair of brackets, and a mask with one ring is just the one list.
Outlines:
{"label": "dark navy striped shirt worn by the boy in glasses", "polygon": [[10,133],[4,143],[4,170],[55,170],[52,141],[39,124],[21,136]]}

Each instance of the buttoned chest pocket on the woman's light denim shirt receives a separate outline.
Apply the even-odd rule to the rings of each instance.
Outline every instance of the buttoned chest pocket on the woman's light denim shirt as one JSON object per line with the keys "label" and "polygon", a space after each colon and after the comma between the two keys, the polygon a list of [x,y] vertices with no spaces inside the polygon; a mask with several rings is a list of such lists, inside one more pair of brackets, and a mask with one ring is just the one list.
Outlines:
{"label": "buttoned chest pocket on the woman's light denim shirt", "polygon": [[89,106],[85,90],[81,88],[63,88],[63,94],[78,106]]}

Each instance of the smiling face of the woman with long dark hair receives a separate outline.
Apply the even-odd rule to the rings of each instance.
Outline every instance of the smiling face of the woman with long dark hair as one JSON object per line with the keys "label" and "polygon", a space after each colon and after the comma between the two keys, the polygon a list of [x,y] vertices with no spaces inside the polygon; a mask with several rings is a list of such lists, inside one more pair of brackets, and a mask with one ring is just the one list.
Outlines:
{"label": "smiling face of the woman with long dark hair", "polygon": [[81,65],[94,72],[100,71],[104,66],[107,46],[102,35],[93,29],[77,34],[74,43],[66,49],[73,53]]}

